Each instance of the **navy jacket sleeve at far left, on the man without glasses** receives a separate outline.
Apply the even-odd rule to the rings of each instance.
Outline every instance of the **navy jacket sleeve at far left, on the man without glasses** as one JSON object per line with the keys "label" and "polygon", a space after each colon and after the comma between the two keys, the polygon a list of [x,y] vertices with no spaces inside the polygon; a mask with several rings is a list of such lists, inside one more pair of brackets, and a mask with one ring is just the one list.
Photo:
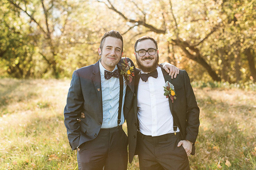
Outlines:
{"label": "navy jacket sleeve at far left, on the man without glasses", "polygon": [[79,74],[78,71],[74,71],[64,108],[64,124],[72,150],[79,145],[80,123],[76,119],[81,117],[83,101]]}

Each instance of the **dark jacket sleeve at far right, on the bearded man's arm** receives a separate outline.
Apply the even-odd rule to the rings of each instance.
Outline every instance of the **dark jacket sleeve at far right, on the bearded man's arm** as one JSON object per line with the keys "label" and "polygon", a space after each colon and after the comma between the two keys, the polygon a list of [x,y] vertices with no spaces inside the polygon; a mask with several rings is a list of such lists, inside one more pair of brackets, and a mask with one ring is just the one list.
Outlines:
{"label": "dark jacket sleeve at far right, on the bearded man's arm", "polygon": [[185,140],[196,142],[199,130],[199,107],[197,106],[196,97],[194,95],[190,78],[186,71],[184,71],[185,92],[187,101],[187,126]]}

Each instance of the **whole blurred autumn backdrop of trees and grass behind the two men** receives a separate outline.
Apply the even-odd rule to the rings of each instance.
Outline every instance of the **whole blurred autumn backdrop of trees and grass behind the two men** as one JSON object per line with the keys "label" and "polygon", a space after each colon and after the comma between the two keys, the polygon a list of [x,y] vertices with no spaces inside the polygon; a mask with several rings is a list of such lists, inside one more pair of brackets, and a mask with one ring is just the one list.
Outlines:
{"label": "whole blurred autumn backdrop of trees and grass behind the two men", "polygon": [[0,170],[78,169],[63,110],[73,71],[100,59],[109,30],[123,56],[135,62],[148,35],[160,63],[190,75],[191,170],[256,170],[256,0],[0,0]]}

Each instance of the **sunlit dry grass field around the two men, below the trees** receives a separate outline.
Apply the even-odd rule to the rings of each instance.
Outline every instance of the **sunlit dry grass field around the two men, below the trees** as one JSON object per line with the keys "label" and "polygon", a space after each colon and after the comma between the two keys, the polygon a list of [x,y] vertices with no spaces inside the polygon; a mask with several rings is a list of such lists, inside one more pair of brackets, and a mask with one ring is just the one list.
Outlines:
{"label": "sunlit dry grass field around the two men, below the trees", "polygon": [[[78,169],[63,121],[69,85],[70,80],[0,79],[0,170]],[[191,170],[256,170],[256,91],[194,92],[201,124]],[[138,165],[136,157],[128,170]]]}

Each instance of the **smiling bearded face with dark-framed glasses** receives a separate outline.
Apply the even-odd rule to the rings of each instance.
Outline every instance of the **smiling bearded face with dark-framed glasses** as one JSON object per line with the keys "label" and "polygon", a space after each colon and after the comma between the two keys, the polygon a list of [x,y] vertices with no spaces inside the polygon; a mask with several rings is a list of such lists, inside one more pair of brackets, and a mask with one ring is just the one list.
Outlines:
{"label": "smiling bearded face with dark-framed glasses", "polygon": [[[149,49],[156,49],[156,45],[154,44],[154,42],[151,39],[145,39],[145,40],[139,41],[137,43],[137,47],[136,47],[135,51],[149,50]],[[158,66],[158,62],[159,62],[158,53],[159,53],[158,50],[154,55],[149,55],[149,53],[147,52],[145,54],[145,56],[141,57],[138,55],[138,53],[134,52],[134,55],[136,57],[136,62],[138,64],[139,68],[142,71],[147,72],[147,73],[156,69],[156,67]]]}

